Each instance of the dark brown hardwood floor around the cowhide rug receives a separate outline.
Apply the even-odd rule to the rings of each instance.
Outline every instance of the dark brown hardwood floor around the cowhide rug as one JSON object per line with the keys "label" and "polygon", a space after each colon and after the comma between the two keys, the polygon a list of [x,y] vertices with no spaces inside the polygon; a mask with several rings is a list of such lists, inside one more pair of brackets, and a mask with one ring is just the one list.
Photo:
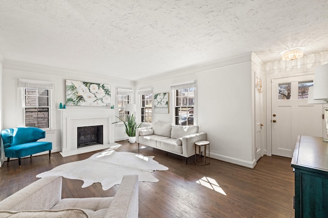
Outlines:
{"label": "dark brown hardwood floor around the cowhide rug", "polygon": [[[211,159],[206,166],[150,147],[119,141],[117,151],[155,156],[169,167],[155,171],[159,182],[139,182],[139,217],[294,217],[294,174],[291,158],[263,156],[254,169]],[[36,181],[35,176],[67,162],[90,157],[90,152],[70,157],[53,153],[17,160],[0,168],[0,200]],[[110,176],[110,175],[109,175]],[[83,181],[63,180],[63,198],[107,197],[118,185],[104,191],[99,183],[81,188]]]}

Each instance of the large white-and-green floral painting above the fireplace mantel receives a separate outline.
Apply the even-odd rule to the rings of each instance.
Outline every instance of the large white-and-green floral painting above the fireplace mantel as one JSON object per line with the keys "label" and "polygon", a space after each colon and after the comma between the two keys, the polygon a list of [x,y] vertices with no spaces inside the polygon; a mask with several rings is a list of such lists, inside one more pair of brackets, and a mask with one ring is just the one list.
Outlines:
{"label": "large white-and-green floral painting above the fireplace mantel", "polygon": [[110,106],[110,85],[66,80],[66,105]]}

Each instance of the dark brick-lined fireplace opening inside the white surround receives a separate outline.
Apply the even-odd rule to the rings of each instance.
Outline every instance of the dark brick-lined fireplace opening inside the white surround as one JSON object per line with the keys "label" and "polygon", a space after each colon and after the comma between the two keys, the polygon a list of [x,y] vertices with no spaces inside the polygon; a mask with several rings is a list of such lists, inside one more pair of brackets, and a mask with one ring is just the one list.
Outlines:
{"label": "dark brick-lined fireplace opening inside the white surround", "polygon": [[77,148],[103,143],[103,126],[77,127]]}

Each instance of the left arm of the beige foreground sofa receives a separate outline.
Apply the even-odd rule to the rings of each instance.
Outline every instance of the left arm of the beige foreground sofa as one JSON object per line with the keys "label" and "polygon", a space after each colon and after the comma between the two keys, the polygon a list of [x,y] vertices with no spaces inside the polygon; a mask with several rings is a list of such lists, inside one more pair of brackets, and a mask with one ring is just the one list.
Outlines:
{"label": "left arm of the beige foreground sofa", "polygon": [[0,210],[45,210],[61,199],[62,178],[41,178],[0,202]]}

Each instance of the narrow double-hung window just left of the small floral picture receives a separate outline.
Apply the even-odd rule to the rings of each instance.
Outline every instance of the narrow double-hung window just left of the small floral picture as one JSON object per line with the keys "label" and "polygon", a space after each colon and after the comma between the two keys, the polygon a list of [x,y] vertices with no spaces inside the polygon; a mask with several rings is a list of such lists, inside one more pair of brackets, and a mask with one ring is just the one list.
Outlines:
{"label": "narrow double-hung window just left of the small floral picture", "polygon": [[141,122],[143,123],[152,123],[152,89],[139,90],[140,95],[140,108],[141,108]]}

